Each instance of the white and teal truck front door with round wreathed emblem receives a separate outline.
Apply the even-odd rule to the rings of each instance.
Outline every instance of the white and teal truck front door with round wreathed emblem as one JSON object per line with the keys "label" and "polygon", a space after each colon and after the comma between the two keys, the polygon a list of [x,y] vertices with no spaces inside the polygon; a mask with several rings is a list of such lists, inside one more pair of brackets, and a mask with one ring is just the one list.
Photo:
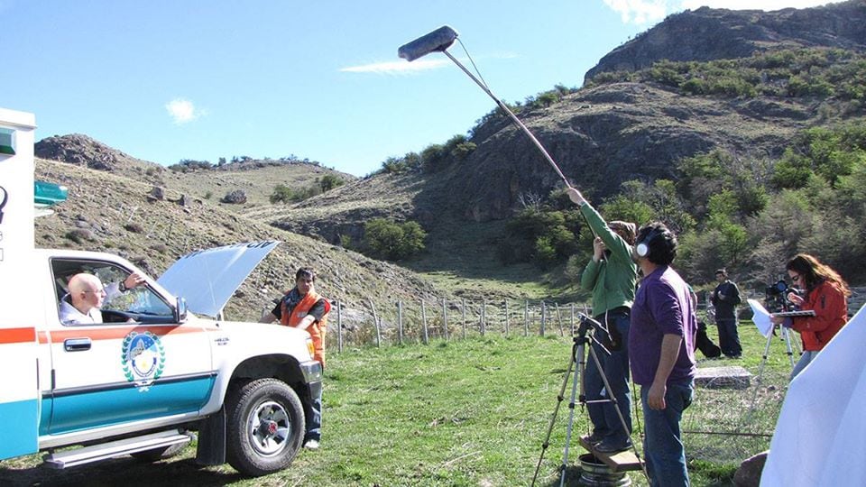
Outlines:
{"label": "white and teal truck front door with round wreathed emblem", "polygon": [[194,412],[216,379],[208,333],[198,320],[174,323],[170,298],[143,286],[117,291],[131,270],[114,262],[52,259],[59,309],[71,302],[65,284],[78,272],[106,289],[103,323],[51,331],[53,384],[48,433],[102,427]]}

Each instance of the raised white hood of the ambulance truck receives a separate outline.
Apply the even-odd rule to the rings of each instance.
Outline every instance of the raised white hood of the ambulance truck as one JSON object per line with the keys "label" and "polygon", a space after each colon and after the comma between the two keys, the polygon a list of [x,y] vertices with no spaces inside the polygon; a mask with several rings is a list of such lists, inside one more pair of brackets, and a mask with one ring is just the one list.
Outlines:
{"label": "raised white hood of the ambulance truck", "polygon": [[279,244],[273,240],[235,243],[188,253],[157,282],[186,299],[193,313],[217,317],[255,266]]}

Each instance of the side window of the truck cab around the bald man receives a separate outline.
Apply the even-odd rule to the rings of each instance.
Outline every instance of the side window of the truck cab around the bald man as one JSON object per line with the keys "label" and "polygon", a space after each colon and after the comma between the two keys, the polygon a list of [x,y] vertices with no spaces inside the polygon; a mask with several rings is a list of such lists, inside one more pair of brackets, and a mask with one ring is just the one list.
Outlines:
{"label": "side window of the truck cab around the bald man", "polygon": [[[58,290],[58,313],[61,322],[64,307],[72,304],[69,296],[69,280],[78,273],[88,273],[96,276],[106,289],[99,312],[90,315],[96,317],[88,323],[63,323],[64,325],[91,325],[101,323],[171,323],[173,312],[171,306],[159,294],[146,284],[126,292],[118,290],[118,284],[123,282],[131,271],[110,262],[78,261],[53,259],[51,269]],[[64,304],[66,301],[66,304]]]}

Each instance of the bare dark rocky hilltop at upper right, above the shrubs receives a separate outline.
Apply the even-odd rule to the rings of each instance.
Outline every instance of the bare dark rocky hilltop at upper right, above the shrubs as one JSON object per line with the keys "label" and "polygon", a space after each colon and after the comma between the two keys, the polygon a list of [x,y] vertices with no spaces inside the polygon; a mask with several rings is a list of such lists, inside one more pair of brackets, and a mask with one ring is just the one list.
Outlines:
{"label": "bare dark rocky hilltop at upper right, above the shrubs", "polygon": [[727,60],[779,47],[866,48],[866,3],[851,0],[775,12],[701,7],[668,16],[614,49],[586,73],[648,68],[657,60]]}

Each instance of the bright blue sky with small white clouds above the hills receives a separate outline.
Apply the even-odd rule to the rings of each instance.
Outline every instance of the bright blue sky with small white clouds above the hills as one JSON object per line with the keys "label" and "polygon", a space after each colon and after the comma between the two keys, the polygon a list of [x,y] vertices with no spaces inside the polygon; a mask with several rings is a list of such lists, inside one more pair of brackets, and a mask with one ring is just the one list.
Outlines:
{"label": "bright blue sky with small white clouds above the hills", "polygon": [[443,54],[397,57],[442,25],[513,102],[580,87],[604,54],[685,8],[825,3],[0,0],[0,106],[34,113],[37,140],[85,133],[164,165],[293,154],[362,176],[495,106]]}

